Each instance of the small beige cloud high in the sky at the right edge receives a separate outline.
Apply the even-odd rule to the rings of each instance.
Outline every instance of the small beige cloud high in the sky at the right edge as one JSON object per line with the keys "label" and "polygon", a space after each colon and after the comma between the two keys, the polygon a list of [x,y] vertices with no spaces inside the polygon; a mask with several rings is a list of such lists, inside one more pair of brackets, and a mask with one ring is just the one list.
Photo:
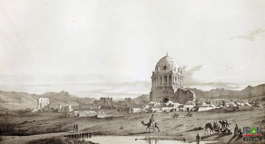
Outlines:
{"label": "small beige cloud high in the sky at the right edge", "polygon": [[[265,30],[262,30],[261,28],[256,28],[253,31],[249,31],[247,34],[229,36],[228,39],[233,40],[235,38],[238,38],[238,39],[243,39],[243,40],[255,41],[256,36],[261,34],[262,32],[265,32]],[[259,35],[259,36],[262,36],[262,35]]]}

